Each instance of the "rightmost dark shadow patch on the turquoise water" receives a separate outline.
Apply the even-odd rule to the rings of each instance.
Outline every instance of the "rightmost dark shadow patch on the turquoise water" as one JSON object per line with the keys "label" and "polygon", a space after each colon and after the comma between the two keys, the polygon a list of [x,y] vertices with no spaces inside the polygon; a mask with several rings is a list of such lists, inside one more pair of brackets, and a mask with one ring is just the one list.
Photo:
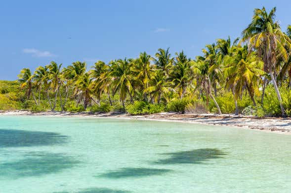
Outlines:
{"label": "rightmost dark shadow patch on the turquoise water", "polygon": [[206,148],[174,153],[165,153],[161,155],[168,155],[170,157],[155,161],[155,164],[202,164],[204,161],[223,158],[222,156],[226,155],[226,153],[218,149]]}

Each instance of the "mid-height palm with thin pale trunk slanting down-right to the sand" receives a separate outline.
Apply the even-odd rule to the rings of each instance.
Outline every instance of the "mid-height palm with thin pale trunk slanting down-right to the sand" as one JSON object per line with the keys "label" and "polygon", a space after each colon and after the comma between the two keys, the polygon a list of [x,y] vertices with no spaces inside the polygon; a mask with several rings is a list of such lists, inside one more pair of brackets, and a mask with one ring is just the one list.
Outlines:
{"label": "mid-height palm with thin pale trunk slanting down-right to the sand", "polygon": [[194,62],[194,64],[192,65],[194,74],[197,77],[197,86],[196,88],[202,88],[202,90],[205,91],[206,93],[206,97],[207,97],[207,105],[208,105],[208,98],[212,98],[213,102],[218,110],[218,114],[221,115],[221,110],[220,107],[218,105],[218,103],[216,102],[214,96],[212,95],[212,89],[211,89],[211,80],[209,78],[209,74],[211,74],[211,71],[214,70],[214,68],[211,68],[211,66],[209,66],[209,63],[207,63],[206,61],[202,61],[202,60],[197,60],[196,62]]}

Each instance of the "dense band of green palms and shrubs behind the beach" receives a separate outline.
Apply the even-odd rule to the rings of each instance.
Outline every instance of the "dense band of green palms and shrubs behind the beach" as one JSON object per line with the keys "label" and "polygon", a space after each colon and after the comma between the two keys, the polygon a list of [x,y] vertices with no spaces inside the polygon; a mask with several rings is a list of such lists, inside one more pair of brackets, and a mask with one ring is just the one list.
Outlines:
{"label": "dense band of green palms and shrubs behind the beach", "polygon": [[0,109],[291,116],[291,26],[282,32],[275,11],[255,9],[241,38],[217,39],[195,59],[160,48],[88,71],[82,62],[23,68],[19,83],[0,82]]}

